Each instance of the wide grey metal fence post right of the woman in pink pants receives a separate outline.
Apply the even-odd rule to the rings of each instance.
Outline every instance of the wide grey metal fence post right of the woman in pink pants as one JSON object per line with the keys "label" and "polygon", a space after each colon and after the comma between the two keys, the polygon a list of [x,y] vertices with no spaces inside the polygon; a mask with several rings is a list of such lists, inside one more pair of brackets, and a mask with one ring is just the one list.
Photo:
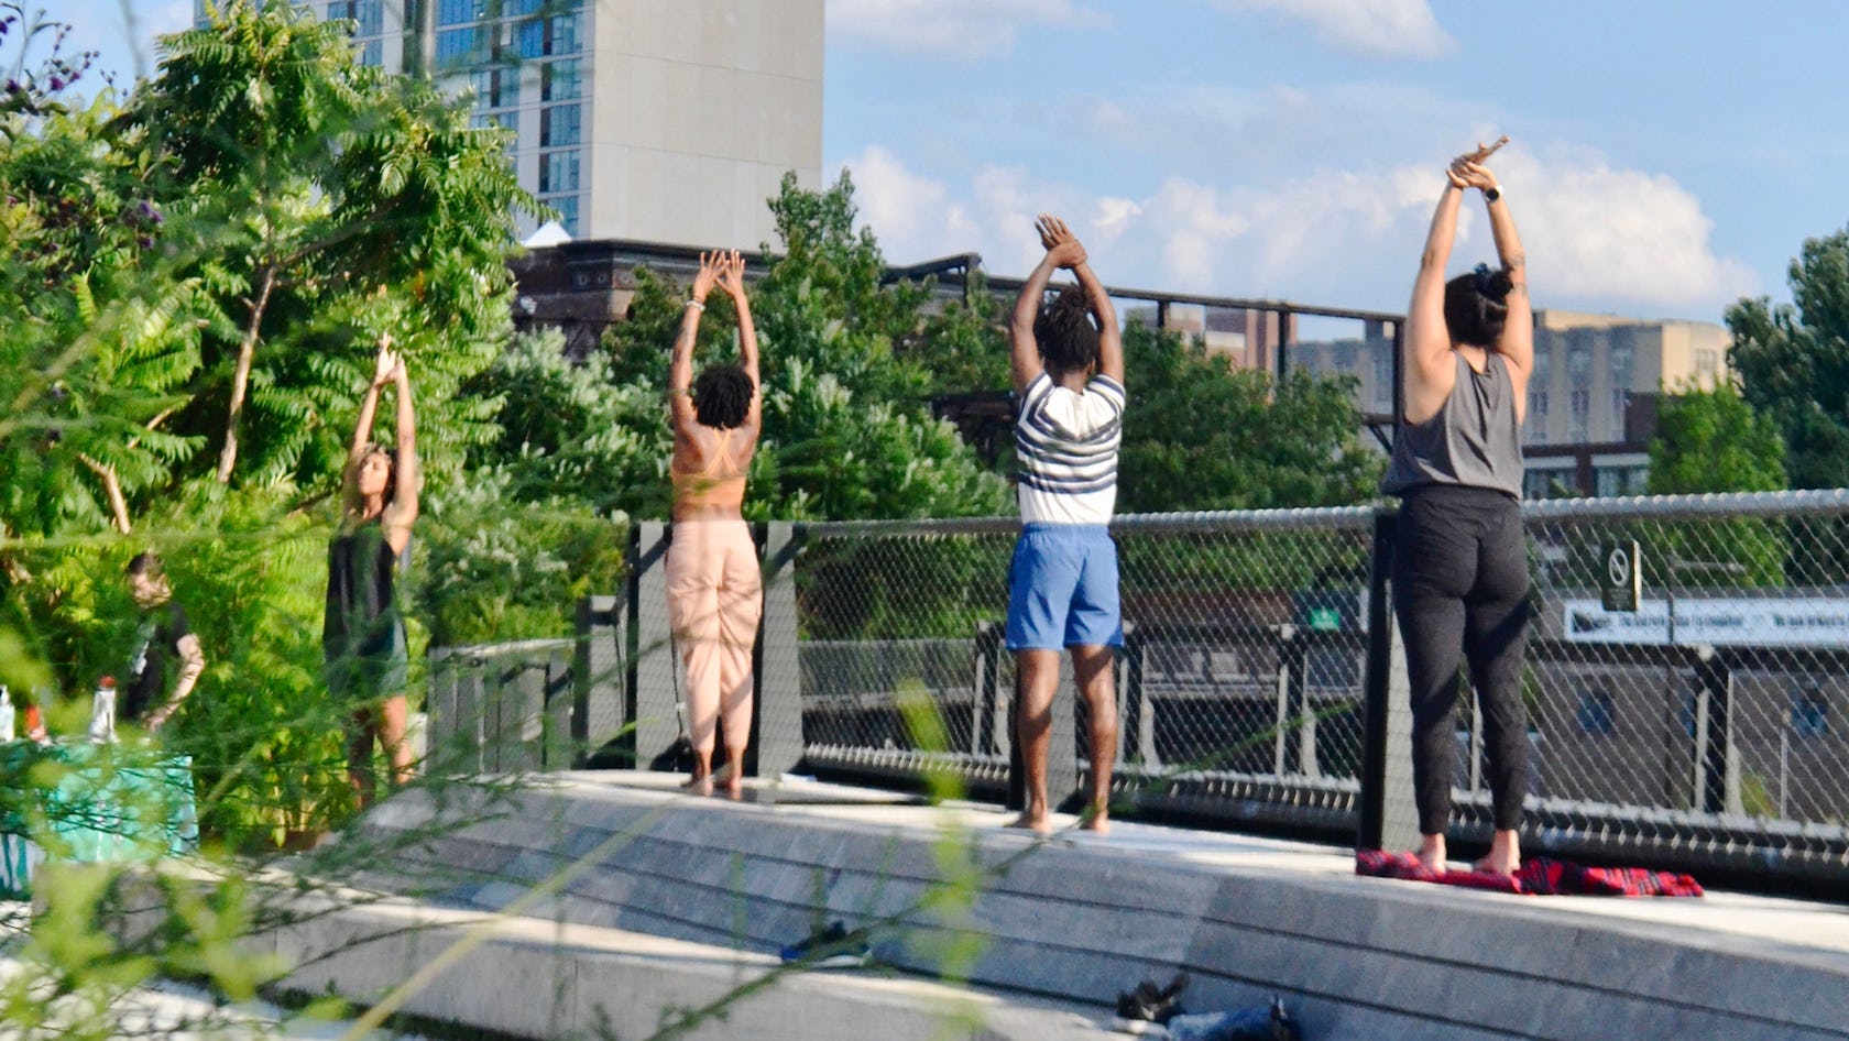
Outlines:
{"label": "wide grey metal fence post right of the woman in pink pants", "polygon": [[753,719],[756,777],[780,777],[802,760],[802,667],[797,658],[797,540],[790,521],[764,525],[764,616],[758,623],[758,704]]}

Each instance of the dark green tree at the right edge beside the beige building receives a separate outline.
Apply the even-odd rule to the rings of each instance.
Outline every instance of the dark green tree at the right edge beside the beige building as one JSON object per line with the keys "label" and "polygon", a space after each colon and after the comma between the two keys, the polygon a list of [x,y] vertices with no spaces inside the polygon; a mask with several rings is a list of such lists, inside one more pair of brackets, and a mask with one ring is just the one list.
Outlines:
{"label": "dark green tree at the right edge beside the beige building", "polygon": [[1794,303],[1727,309],[1727,359],[1784,435],[1790,486],[1849,488],[1849,229],[1806,239],[1788,279]]}

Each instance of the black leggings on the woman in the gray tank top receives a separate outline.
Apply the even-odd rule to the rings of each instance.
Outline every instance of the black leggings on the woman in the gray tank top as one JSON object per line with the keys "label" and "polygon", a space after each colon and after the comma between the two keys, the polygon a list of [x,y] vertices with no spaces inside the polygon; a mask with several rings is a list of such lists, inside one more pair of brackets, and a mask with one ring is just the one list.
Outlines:
{"label": "black leggings on the woman in the gray tank top", "polygon": [[1527,553],[1522,507],[1488,488],[1426,484],[1405,494],[1392,558],[1394,616],[1413,688],[1413,788],[1420,834],[1451,817],[1457,658],[1483,706],[1496,828],[1522,823],[1527,790]]}

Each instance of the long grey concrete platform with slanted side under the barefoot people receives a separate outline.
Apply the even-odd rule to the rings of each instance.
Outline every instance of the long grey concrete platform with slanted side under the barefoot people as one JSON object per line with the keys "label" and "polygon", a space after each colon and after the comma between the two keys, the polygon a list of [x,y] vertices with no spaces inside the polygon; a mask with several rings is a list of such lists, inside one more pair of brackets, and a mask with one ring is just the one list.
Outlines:
{"label": "long grey concrete platform with slanted side under the barefoot people", "polygon": [[[366,884],[418,893],[442,913],[527,919],[505,928],[531,961],[484,954],[475,984],[453,976],[440,993],[470,1006],[507,1004],[510,987],[557,991],[542,1006],[577,1030],[601,997],[660,1023],[662,1002],[616,980],[692,989],[666,1004],[697,1004],[721,980],[769,971],[773,952],[814,923],[845,919],[873,926],[882,963],[973,987],[947,987],[941,1006],[904,989],[934,986],[917,978],[782,976],[753,998],[784,995],[751,1028],[734,1021],[695,1035],[897,1041],[912,1032],[897,1028],[910,1011],[895,1010],[941,1024],[960,995],[980,1010],[963,1035],[1091,1034],[1085,1019],[1102,1021],[1119,989],[1187,969],[1191,1008],[1278,993],[1313,1041],[1849,1037],[1845,906],[1729,893],[1509,897],[1357,878],[1352,854],[1329,847],[1133,823],[1108,838],[1037,839],[982,806],[814,784],[760,788],[734,804],[688,797],[675,780],[547,775],[540,788],[442,810],[401,795],[373,810],[370,836],[435,834],[379,862]],[[414,965],[429,956],[420,950],[398,956]],[[305,978],[316,989],[362,997],[348,987],[366,973],[344,978],[340,960],[314,971],[327,973]],[[873,984],[899,989],[867,1006],[862,987]],[[886,1011],[869,1021],[869,1008]]]}

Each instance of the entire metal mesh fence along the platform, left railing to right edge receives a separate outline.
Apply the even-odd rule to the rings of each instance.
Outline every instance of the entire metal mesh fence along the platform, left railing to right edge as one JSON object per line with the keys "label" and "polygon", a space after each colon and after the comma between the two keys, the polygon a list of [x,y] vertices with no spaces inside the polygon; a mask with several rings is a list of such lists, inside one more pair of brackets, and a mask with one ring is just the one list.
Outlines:
{"label": "entire metal mesh fence along the platform, left railing to right edge", "polygon": [[[1805,876],[1849,867],[1849,492],[1524,510],[1535,577],[1524,843]],[[1403,767],[1407,719],[1403,695],[1387,693],[1390,645],[1370,632],[1383,618],[1376,545],[1390,523],[1372,508],[1113,523],[1122,799],[1331,838],[1411,812],[1381,767]],[[682,762],[660,579],[671,531],[638,531],[629,595],[586,601],[575,647],[440,653],[433,736],[459,719],[464,738],[521,745],[477,754],[484,769],[569,758],[549,754],[542,734],[590,738],[577,762],[612,732],[627,751],[590,762]],[[973,797],[1006,797],[1015,534],[1006,518],[769,525],[749,765],[904,786],[954,777]],[[1633,562],[1635,608],[1622,603]],[[1453,834],[1487,838],[1464,680]],[[1067,791],[1084,788],[1087,760],[1076,701],[1067,675],[1054,714]]]}

